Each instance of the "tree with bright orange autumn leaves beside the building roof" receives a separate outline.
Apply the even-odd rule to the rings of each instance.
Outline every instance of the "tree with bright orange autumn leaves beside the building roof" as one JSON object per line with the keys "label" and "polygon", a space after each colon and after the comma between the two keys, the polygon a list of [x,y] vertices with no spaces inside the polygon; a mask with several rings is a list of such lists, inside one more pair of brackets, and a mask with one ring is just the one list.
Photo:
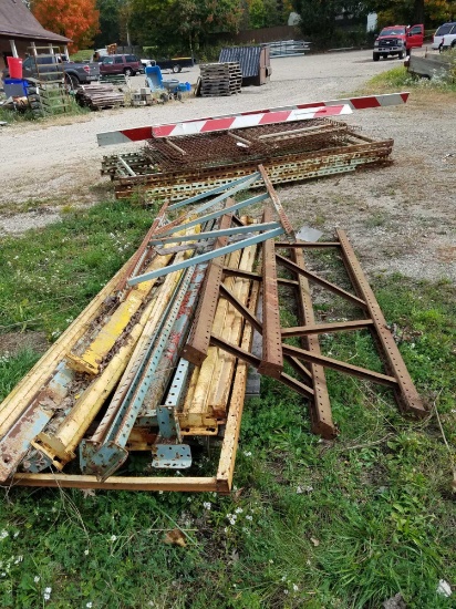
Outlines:
{"label": "tree with bright orange autumn leaves beside the building roof", "polygon": [[51,32],[71,38],[72,52],[87,49],[100,28],[96,0],[33,0],[31,10],[38,21]]}

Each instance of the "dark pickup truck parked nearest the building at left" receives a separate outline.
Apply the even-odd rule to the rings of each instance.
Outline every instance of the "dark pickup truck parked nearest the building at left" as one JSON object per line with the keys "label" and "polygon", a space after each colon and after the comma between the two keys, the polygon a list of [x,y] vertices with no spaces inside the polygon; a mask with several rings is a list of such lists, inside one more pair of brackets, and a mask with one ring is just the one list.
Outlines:
{"label": "dark pickup truck parked nearest the building at left", "polygon": [[[81,63],[74,61],[65,61],[62,55],[37,55],[29,56],[22,63],[22,76],[24,79],[38,79],[41,81],[53,81],[55,74],[63,72],[65,82],[70,89],[77,89],[80,84],[87,84],[97,81],[100,78],[100,66],[97,63]],[[38,66],[38,68],[37,68]],[[10,78],[8,68],[2,71],[2,79]]]}

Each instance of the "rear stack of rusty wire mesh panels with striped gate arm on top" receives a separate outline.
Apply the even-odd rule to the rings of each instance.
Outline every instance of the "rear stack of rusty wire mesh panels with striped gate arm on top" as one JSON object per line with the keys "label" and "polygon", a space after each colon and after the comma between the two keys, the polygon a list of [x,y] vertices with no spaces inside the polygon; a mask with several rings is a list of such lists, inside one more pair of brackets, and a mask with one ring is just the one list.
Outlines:
{"label": "rear stack of rusty wire mesh panels with striped gate arm on top", "polygon": [[146,145],[133,155],[105,156],[102,174],[115,182],[117,198],[141,189],[151,199],[175,202],[247,176],[259,163],[273,184],[385,164],[393,140],[375,141],[335,117],[404,103],[407,95],[333,100],[103,133],[100,145]]}

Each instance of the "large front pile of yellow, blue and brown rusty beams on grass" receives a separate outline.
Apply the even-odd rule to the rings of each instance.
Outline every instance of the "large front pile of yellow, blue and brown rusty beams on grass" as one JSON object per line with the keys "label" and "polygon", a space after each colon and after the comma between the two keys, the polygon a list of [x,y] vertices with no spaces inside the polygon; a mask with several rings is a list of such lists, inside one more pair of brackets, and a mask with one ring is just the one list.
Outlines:
{"label": "large front pile of yellow, blue and brown rusty beams on grass", "polygon": [[[309,270],[315,250],[342,258],[351,289]],[[351,314],[319,319],[311,286]],[[282,301],[296,326],[282,326]],[[321,353],[319,334],[346,331],[372,333],[382,372]],[[404,412],[425,413],[345,234],[301,240],[261,165],[162,207],[137,252],[0,405],[0,481],[228,493],[249,367],[302,395],[323,437],[336,434],[325,368],[386,385]],[[214,436],[218,466],[201,476],[195,454]],[[147,475],[128,467],[139,452]]]}

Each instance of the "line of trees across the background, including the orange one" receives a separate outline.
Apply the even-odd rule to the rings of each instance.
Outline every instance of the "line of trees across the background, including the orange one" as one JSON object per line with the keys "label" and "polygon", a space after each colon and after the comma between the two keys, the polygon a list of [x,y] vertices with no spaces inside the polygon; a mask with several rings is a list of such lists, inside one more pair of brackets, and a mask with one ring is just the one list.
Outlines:
{"label": "line of trees across the background, including the orange one", "polygon": [[301,34],[329,41],[341,19],[379,25],[425,23],[456,17],[456,0],[31,0],[42,25],[71,38],[72,51],[117,42],[148,47],[156,54],[197,52],[218,35],[286,24],[300,17]]}

